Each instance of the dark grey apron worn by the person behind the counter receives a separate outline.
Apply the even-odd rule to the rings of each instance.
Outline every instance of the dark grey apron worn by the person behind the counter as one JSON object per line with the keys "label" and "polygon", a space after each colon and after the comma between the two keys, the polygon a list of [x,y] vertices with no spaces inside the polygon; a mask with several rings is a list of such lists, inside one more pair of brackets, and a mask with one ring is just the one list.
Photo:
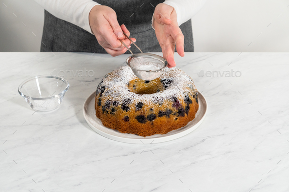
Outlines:
{"label": "dark grey apron worn by the person behind the counter", "polygon": [[[164,0],[95,0],[101,5],[111,7],[117,13],[119,24],[130,31],[130,37],[136,38],[136,44],[143,52],[162,52],[155,31],[151,27],[154,8]],[[185,37],[185,52],[193,52],[193,32],[191,20],[180,26]],[[98,44],[96,37],[86,30],[61,19],[45,10],[42,35],[42,52],[91,52],[107,53]],[[134,53],[140,51],[131,46]],[[129,53],[129,51],[126,51]]]}

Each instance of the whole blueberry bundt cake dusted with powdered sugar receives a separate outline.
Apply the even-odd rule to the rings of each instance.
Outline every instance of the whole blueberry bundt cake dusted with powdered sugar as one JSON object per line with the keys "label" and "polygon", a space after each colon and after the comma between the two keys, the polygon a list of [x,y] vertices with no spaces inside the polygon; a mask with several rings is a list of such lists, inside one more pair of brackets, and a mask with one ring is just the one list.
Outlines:
{"label": "whole blueberry bundt cake dusted with powdered sugar", "polygon": [[199,105],[193,80],[181,69],[166,67],[157,79],[144,81],[121,66],[97,86],[95,108],[103,126],[145,137],[186,126]]}

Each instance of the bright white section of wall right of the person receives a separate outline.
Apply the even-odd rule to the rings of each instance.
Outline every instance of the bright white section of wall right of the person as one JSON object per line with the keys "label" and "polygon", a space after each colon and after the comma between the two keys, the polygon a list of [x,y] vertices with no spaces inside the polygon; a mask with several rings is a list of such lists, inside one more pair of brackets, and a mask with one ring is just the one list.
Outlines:
{"label": "bright white section of wall right of the person", "polygon": [[193,17],[195,51],[287,52],[288,5],[288,0],[208,0]]}

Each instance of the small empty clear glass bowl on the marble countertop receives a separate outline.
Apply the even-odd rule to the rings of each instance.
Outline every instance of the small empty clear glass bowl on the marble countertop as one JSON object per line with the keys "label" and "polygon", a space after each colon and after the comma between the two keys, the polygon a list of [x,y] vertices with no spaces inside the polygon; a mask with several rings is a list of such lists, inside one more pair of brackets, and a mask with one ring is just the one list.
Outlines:
{"label": "small empty clear glass bowl on the marble countertop", "polygon": [[19,94],[36,111],[51,111],[60,106],[69,83],[58,76],[40,75],[25,80],[18,87]]}

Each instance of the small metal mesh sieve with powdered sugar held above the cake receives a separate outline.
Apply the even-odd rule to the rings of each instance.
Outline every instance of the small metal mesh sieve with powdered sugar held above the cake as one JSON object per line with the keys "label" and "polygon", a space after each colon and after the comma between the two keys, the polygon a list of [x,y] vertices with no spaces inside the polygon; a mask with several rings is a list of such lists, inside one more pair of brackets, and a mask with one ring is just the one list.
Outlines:
{"label": "small metal mesh sieve with powdered sugar held above the cake", "polygon": [[168,66],[167,60],[156,54],[143,53],[143,51],[124,32],[123,34],[141,51],[141,53],[133,54],[126,44],[120,40],[132,54],[126,59],[126,64],[130,66],[134,74],[139,79],[145,81],[154,80],[159,77],[162,74],[162,69]]}

